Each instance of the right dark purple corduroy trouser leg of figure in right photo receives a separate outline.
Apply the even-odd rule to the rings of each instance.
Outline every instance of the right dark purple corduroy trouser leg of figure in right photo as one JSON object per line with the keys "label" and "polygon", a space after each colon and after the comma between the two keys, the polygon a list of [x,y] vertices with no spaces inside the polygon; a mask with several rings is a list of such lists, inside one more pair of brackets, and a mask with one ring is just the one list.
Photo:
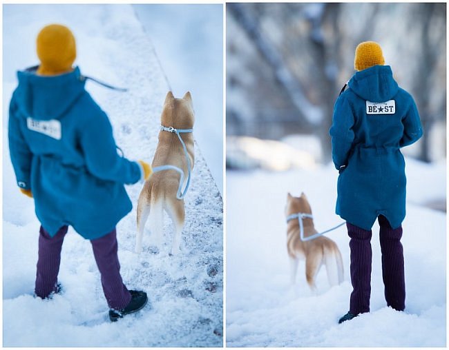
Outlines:
{"label": "right dark purple corduroy trouser leg of figure in right photo", "polygon": [[405,309],[404,254],[402,227],[393,229],[385,216],[379,216],[382,251],[382,277],[387,305],[398,311]]}

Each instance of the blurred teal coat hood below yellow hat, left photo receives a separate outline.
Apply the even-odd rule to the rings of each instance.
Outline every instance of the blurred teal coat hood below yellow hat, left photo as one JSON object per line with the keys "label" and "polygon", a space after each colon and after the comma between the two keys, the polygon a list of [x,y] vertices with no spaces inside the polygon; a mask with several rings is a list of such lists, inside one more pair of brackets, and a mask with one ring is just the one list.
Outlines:
{"label": "blurred teal coat hood below yellow hat, left photo", "polygon": [[85,78],[75,68],[56,76],[39,76],[37,67],[17,72],[15,101],[23,115],[39,120],[59,119],[83,94]]}

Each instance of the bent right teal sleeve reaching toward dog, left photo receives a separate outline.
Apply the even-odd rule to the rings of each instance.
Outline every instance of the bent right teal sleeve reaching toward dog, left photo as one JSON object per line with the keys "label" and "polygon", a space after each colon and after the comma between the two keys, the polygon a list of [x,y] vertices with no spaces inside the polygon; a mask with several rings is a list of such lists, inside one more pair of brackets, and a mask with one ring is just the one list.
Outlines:
{"label": "bent right teal sleeve reaching toward dog, left photo", "polygon": [[142,177],[140,165],[117,154],[117,145],[108,116],[97,107],[80,132],[80,146],[88,171],[105,181],[137,183]]}

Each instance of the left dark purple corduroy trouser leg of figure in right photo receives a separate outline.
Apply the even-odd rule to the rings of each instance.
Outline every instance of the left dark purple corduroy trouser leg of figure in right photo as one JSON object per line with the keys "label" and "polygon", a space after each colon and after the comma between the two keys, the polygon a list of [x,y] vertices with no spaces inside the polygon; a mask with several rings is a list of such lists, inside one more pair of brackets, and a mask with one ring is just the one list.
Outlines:
{"label": "left dark purple corduroy trouser leg of figure in right photo", "polygon": [[370,311],[371,296],[371,230],[346,223],[350,236],[351,283],[350,312],[352,315]]}

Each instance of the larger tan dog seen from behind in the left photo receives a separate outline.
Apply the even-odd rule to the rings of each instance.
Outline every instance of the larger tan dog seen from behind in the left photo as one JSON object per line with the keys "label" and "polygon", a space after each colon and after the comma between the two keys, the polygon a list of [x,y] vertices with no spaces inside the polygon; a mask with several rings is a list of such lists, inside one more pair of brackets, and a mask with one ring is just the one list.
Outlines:
{"label": "larger tan dog seen from behind in the left photo", "polygon": [[[191,129],[193,128],[194,121],[195,116],[190,92],[187,92],[182,99],[175,99],[171,92],[166,94],[161,115],[161,125],[174,127],[179,130]],[[191,132],[182,133],[180,136],[186,145],[191,168],[193,169],[193,134]],[[187,180],[187,160],[184,148],[177,134],[164,130],[160,131],[159,142],[157,143],[155,156],[151,165],[153,168],[160,165],[175,165],[183,169],[185,179]],[[151,235],[154,236],[153,243],[157,247],[160,247],[163,239],[164,210],[169,214],[175,227],[171,254],[177,254],[179,252],[185,217],[184,200],[176,198],[179,183],[180,174],[175,172],[175,170],[155,172],[149,178],[149,181],[145,182],[137,203],[137,239],[135,245],[135,251],[137,253],[142,251],[142,236],[148,217],[150,217]]]}

